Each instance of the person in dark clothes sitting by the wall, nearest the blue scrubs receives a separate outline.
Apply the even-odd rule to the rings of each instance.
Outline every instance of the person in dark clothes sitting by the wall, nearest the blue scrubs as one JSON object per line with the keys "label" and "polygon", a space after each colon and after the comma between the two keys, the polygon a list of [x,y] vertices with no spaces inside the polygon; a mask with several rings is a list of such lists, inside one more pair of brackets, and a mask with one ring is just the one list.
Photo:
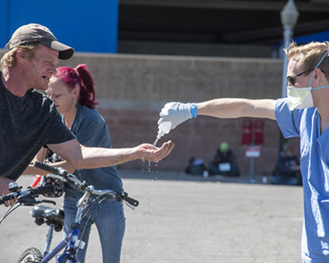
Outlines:
{"label": "person in dark clothes sitting by the wall, nearest the blue scrubs", "polygon": [[275,170],[271,177],[272,184],[301,185],[300,166],[292,145],[285,143],[279,154]]}

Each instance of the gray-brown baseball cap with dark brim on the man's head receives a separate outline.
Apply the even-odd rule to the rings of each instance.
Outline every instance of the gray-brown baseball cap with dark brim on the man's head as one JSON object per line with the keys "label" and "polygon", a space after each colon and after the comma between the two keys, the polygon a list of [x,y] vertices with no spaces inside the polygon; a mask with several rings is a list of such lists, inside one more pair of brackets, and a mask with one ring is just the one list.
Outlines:
{"label": "gray-brown baseball cap with dark brim on the man's head", "polygon": [[39,42],[46,47],[59,51],[58,58],[68,60],[73,56],[74,49],[59,42],[51,31],[39,24],[28,24],[19,27],[9,40],[6,46],[9,49],[17,45],[24,45],[32,42]]}

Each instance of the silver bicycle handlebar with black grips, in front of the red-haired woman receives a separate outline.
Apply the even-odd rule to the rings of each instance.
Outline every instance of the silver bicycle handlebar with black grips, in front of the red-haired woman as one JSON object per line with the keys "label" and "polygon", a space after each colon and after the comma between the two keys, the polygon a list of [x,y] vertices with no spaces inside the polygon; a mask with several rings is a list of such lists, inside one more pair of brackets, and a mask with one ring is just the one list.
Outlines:
{"label": "silver bicycle handlebar with black grips, in front of the red-haired woman", "polygon": [[73,181],[80,188],[87,189],[90,193],[92,193],[94,195],[110,194],[117,201],[126,201],[127,203],[129,203],[135,207],[137,207],[139,205],[139,202],[131,197],[128,197],[128,194],[126,192],[116,193],[112,190],[96,190],[96,189],[94,189],[93,185],[87,186],[84,182],[81,182],[76,176],[70,174],[69,172],[67,172],[65,169],[63,169],[61,167],[53,167],[44,162],[39,162],[39,161],[35,161],[34,166],[39,169],[42,169],[44,171],[52,173],[52,174],[48,175],[49,177],[57,178],[63,182]]}

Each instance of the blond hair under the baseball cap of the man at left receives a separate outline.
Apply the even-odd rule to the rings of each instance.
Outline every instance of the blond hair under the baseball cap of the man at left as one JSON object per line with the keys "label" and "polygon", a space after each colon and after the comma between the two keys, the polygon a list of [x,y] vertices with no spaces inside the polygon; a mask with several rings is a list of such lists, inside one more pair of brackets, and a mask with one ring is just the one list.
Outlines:
{"label": "blond hair under the baseball cap of the man at left", "polygon": [[[15,46],[13,49],[9,50],[7,53],[5,53],[1,59],[1,68],[2,69],[5,69],[5,68],[8,68],[8,69],[11,69],[13,68],[15,65],[16,65],[16,54],[17,54],[17,51],[20,49],[20,48],[23,48],[25,49],[27,55],[28,55],[28,59],[31,59],[34,57],[35,53],[36,53],[36,50],[38,49],[39,47],[39,43],[38,42],[33,42],[33,43],[29,43],[27,45],[18,45],[18,46]],[[6,45],[6,47],[8,46],[8,44]]]}

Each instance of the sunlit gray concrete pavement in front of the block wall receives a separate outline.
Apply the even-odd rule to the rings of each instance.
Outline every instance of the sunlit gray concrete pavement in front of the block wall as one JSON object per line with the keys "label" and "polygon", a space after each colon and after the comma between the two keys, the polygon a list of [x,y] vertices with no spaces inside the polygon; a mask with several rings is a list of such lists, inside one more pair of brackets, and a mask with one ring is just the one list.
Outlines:
{"label": "sunlit gray concrete pavement in front of the block wall", "polygon": [[[184,173],[119,170],[125,191],[139,200],[125,206],[122,263],[274,263],[300,262],[302,187],[202,178]],[[27,186],[32,176],[18,182]],[[62,200],[56,199],[58,207]],[[16,262],[28,247],[44,248],[47,227],[38,227],[20,207],[0,225],[1,262]],[[5,212],[0,207],[0,214]],[[62,235],[55,233],[53,245]],[[86,262],[102,262],[93,228]]]}

